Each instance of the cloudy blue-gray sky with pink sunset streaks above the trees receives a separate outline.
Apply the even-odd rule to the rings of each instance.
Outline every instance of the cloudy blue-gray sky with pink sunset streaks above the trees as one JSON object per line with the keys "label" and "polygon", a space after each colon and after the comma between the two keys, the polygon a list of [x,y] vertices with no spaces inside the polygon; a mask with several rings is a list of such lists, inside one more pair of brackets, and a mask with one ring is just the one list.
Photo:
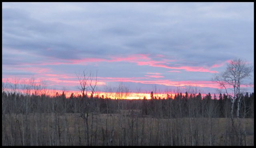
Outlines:
{"label": "cloudy blue-gray sky with pink sunset streaks above the trees", "polygon": [[97,91],[218,93],[235,58],[254,66],[252,2],[2,3],[3,82],[78,91],[85,70]]}

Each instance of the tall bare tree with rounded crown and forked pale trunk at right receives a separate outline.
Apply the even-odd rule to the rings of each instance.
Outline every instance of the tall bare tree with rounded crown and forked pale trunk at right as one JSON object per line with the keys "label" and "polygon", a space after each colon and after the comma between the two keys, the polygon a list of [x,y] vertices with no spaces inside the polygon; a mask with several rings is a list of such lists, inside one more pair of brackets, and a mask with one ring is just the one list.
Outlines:
{"label": "tall bare tree with rounded crown and forked pale trunk at right", "polygon": [[212,78],[212,81],[220,84],[220,86],[225,89],[225,92],[231,97],[231,118],[233,118],[234,103],[236,99],[238,99],[236,116],[239,118],[240,99],[242,96],[240,87],[241,85],[247,85],[244,83],[244,79],[250,78],[250,73],[252,73],[252,71],[253,67],[247,61],[234,59],[228,63],[225,71],[214,75]]}

